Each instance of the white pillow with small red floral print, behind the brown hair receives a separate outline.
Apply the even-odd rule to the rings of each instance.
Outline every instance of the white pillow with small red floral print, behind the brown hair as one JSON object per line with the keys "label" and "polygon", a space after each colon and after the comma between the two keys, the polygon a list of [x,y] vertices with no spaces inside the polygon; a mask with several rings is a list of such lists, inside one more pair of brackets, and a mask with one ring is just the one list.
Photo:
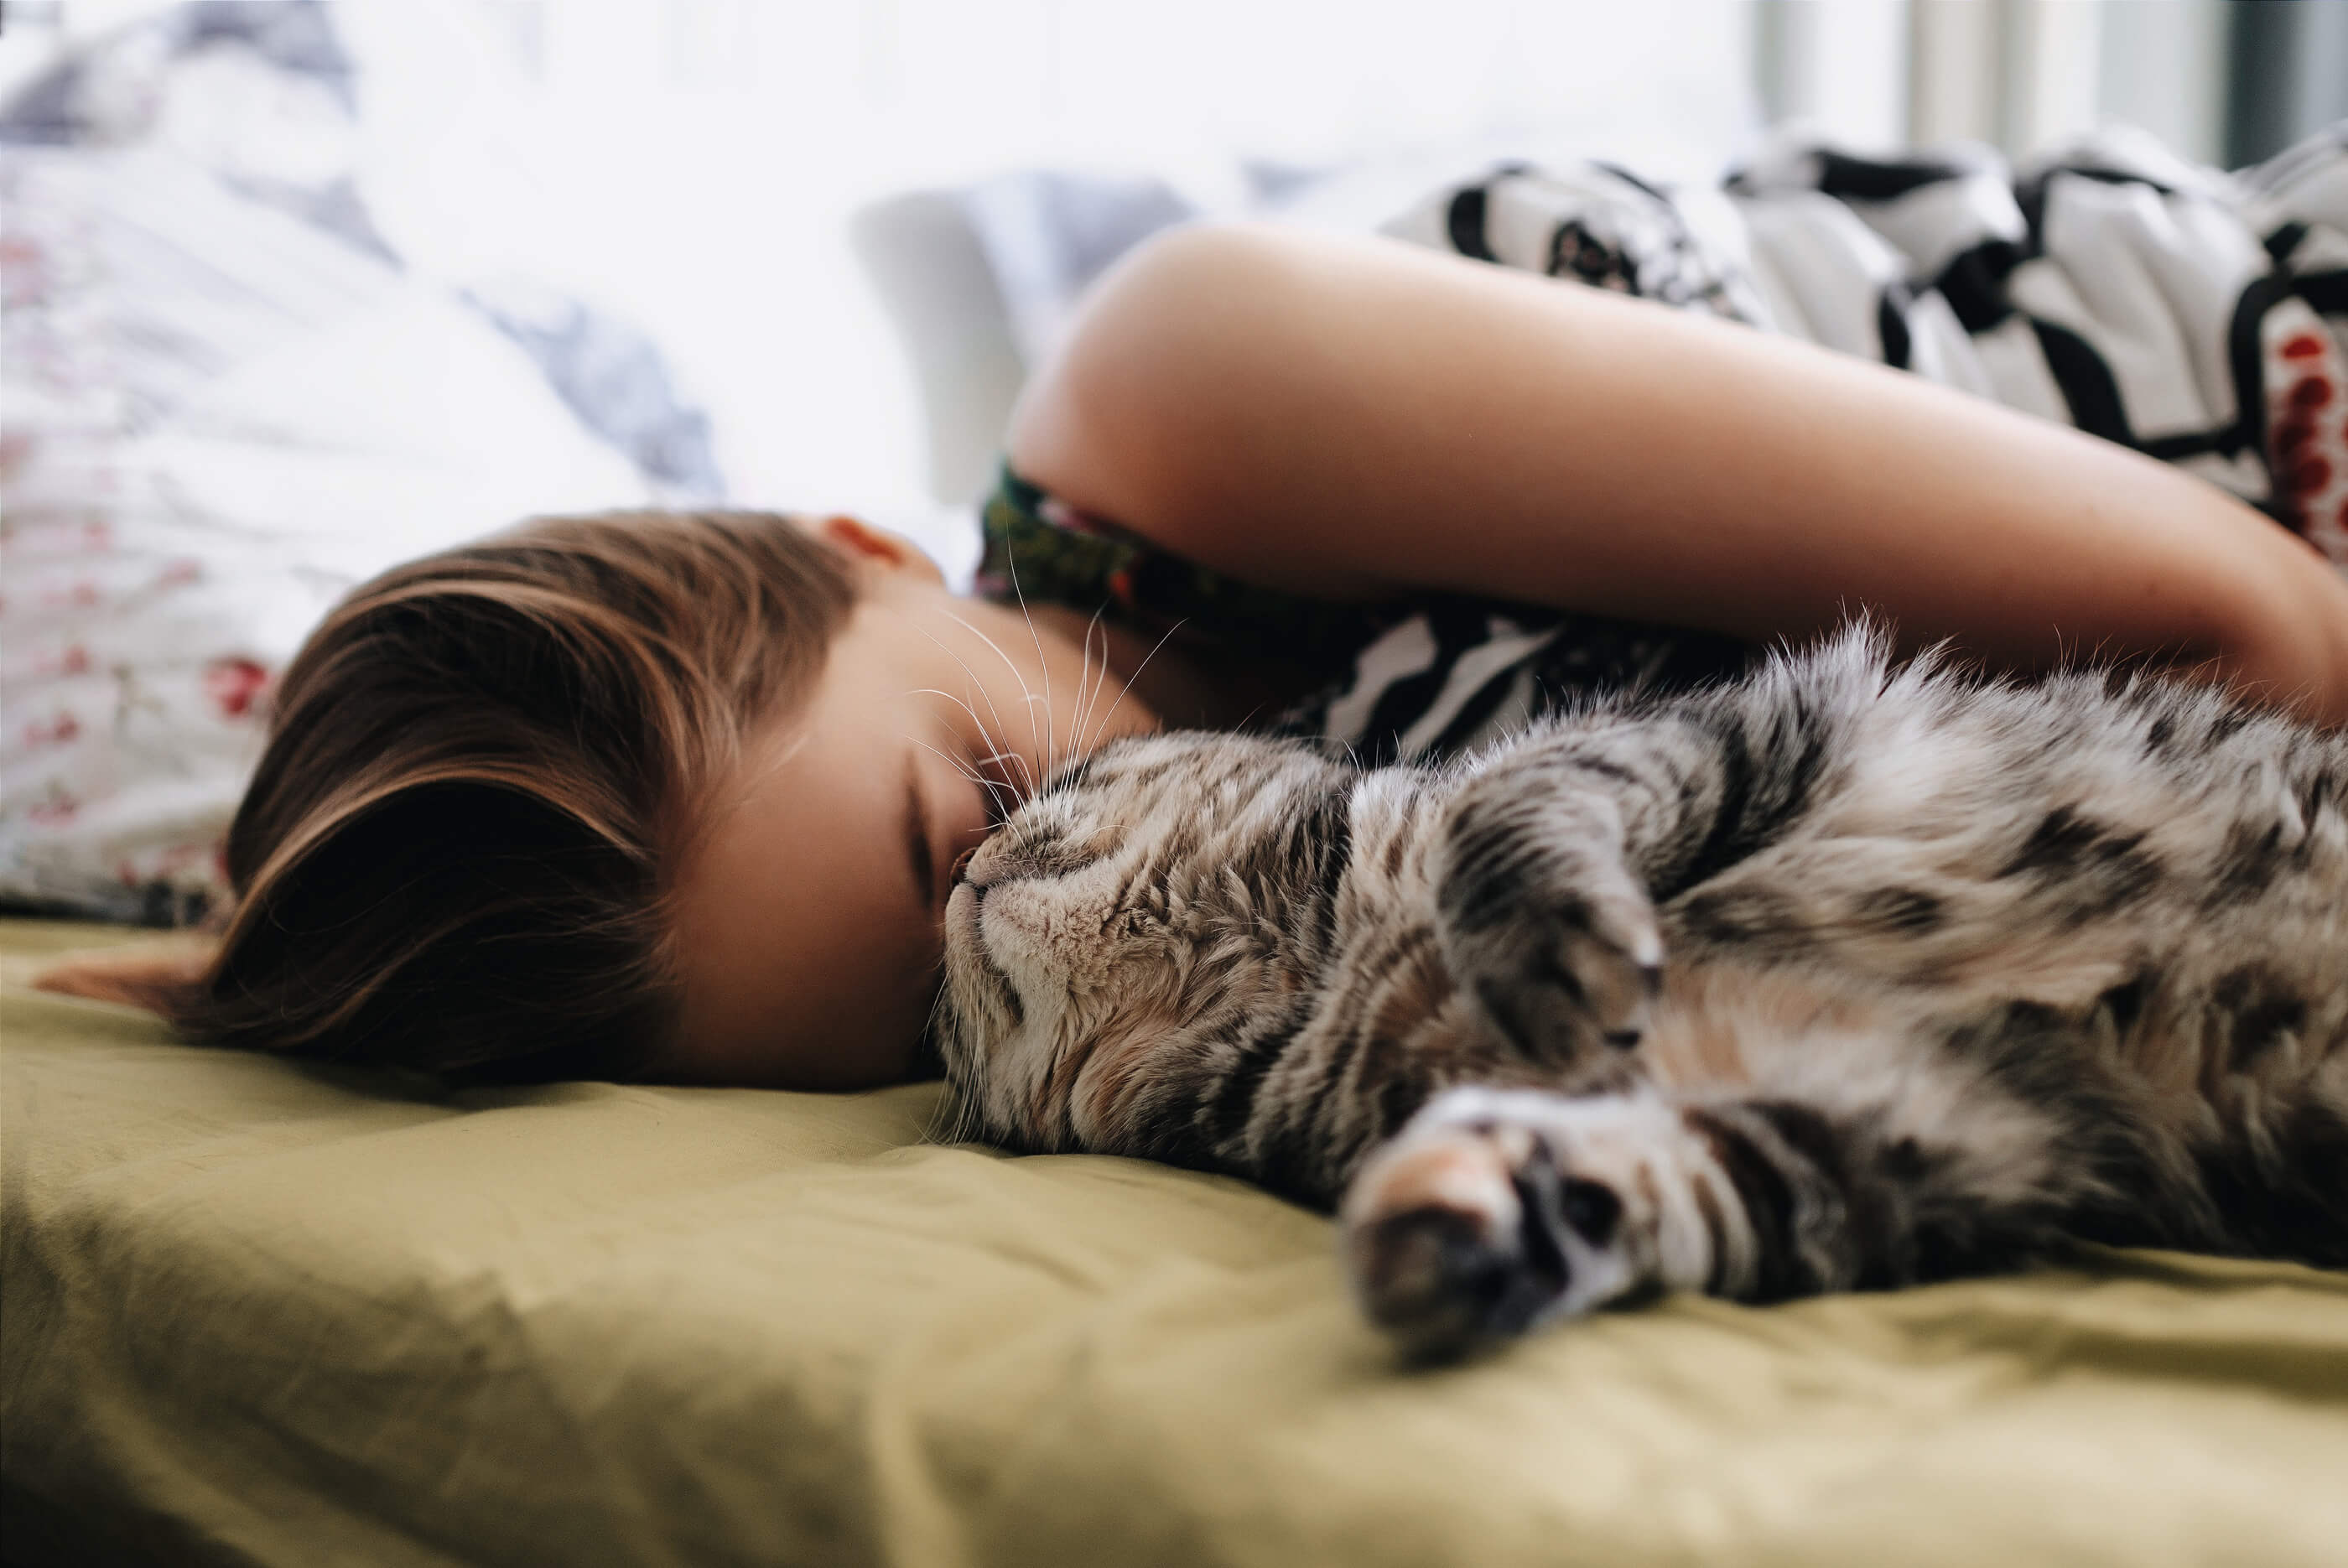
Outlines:
{"label": "white pillow with small red floral print, behind the brown hair", "polygon": [[0,150],[0,901],[190,920],[329,603],[648,488],[479,312],[171,150]]}

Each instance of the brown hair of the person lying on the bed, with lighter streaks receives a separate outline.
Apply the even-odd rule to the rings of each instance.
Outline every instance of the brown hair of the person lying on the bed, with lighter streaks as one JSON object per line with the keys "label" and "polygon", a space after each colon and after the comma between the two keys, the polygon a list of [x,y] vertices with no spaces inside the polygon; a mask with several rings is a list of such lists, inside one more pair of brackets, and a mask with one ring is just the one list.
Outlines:
{"label": "brown hair of the person lying on the bed, with lighter streaks", "polygon": [[758,512],[540,519],[359,587],[284,674],[176,1021],[456,1080],[641,1073],[693,807],[852,606]]}

